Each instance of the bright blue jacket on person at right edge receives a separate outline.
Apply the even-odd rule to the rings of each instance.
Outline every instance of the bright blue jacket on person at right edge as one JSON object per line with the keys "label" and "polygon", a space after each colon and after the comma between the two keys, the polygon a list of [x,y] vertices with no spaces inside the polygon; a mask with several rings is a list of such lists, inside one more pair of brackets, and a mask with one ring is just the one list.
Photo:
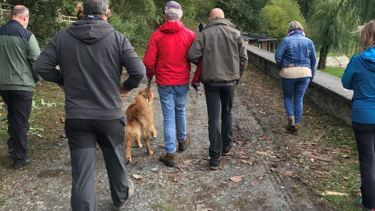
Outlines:
{"label": "bright blue jacket on person at right edge", "polygon": [[375,47],[352,57],[341,82],[354,90],[352,121],[375,124]]}

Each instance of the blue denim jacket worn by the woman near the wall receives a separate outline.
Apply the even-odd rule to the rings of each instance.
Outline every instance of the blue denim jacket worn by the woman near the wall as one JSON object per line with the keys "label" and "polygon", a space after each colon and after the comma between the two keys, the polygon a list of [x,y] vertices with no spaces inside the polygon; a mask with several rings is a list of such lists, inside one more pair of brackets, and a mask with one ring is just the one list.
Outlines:
{"label": "blue denim jacket worn by the woman near the wall", "polygon": [[309,67],[312,77],[316,71],[316,52],[314,43],[301,34],[288,36],[281,40],[275,53],[275,60],[281,67]]}

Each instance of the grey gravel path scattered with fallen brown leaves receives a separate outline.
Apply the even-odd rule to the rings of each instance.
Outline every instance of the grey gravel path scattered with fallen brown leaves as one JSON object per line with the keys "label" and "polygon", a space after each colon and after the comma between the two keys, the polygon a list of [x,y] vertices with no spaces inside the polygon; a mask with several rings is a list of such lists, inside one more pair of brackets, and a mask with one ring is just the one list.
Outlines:
{"label": "grey gravel path scattered with fallen brown leaves", "polygon": [[[246,80],[244,80],[246,81]],[[255,82],[251,82],[255,83]],[[251,84],[258,86],[259,84]],[[146,81],[142,85],[146,87]],[[140,89],[140,88],[139,88]],[[138,90],[124,98],[124,109]],[[158,136],[151,140],[154,154],[146,148],[132,148],[128,176],[135,184],[128,211],[324,211],[316,193],[295,176],[295,160],[283,146],[278,130],[266,127],[262,110],[255,105],[256,92],[249,84],[237,86],[233,109],[234,150],[223,157],[217,171],[208,168],[207,110],[203,96],[191,90],[187,99],[187,131],[194,139],[191,146],[178,153],[178,165],[168,168],[158,161],[164,152],[163,115],[156,84],[153,103]],[[272,90],[270,91],[272,92]],[[264,96],[256,98],[259,101]],[[282,105],[280,105],[282,107]],[[264,108],[267,109],[267,108]],[[284,120],[274,119],[275,122]],[[1,188],[5,204],[1,211],[63,211],[70,210],[70,156],[67,141],[62,150],[50,159],[34,162],[33,168],[9,169],[2,175]],[[241,178],[238,182],[229,180]],[[135,179],[137,177],[138,179]],[[112,210],[109,184],[100,150],[96,156],[97,203],[99,211]],[[304,190],[304,194],[300,194]]]}

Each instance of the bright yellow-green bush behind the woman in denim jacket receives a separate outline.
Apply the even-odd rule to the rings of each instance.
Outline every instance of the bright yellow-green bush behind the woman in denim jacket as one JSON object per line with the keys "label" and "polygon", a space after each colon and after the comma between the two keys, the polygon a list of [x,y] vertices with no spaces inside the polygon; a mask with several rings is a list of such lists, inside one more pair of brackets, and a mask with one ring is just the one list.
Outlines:
{"label": "bright yellow-green bush behind the woman in denim jacket", "polygon": [[306,21],[295,0],[271,0],[261,10],[260,18],[260,32],[278,40],[286,36],[291,21],[299,21],[306,27]]}

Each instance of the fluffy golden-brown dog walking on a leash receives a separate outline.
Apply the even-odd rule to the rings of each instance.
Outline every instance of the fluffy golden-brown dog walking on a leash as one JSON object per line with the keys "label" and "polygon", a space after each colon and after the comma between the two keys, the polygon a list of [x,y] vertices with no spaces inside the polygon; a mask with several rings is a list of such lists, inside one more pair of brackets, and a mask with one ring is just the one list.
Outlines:
{"label": "fluffy golden-brown dog walking on a leash", "polygon": [[[142,148],[141,138],[145,141],[147,154],[152,155],[150,135],[156,138],[152,106],[143,97],[145,90],[141,90],[135,101],[126,109],[126,162],[131,162],[131,146],[135,140],[137,148]],[[150,102],[153,94],[150,90]]]}

